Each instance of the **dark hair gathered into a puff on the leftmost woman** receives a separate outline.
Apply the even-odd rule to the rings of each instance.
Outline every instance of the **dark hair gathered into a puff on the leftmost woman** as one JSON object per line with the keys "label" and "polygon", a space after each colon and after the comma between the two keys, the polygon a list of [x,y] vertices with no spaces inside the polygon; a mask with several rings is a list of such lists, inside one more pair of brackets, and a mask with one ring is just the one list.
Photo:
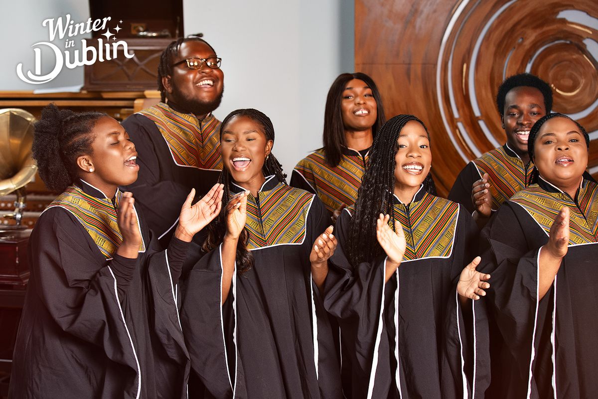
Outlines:
{"label": "dark hair gathered into a puff on the leftmost woman", "polygon": [[93,127],[104,112],[73,112],[50,104],[33,127],[33,159],[46,187],[62,193],[79,178],[77,158],[93,152]]}

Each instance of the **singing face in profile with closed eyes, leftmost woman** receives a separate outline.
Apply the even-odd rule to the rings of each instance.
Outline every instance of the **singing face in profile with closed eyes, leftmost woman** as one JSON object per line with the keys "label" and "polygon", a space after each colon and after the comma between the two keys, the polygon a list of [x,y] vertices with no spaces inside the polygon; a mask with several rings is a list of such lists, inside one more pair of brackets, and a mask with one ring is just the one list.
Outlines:
{"label": "singing face in profile with closed eyes, leftmost woman", "polygon": [[[91,135],[94,136],[91,154],[77,159],[81,178],[104,193],[135,182],[139,172],[137,151],[124,127],[114,118],[101,117],[94,124]],[[90,168],[93,168],[91,173]]]}

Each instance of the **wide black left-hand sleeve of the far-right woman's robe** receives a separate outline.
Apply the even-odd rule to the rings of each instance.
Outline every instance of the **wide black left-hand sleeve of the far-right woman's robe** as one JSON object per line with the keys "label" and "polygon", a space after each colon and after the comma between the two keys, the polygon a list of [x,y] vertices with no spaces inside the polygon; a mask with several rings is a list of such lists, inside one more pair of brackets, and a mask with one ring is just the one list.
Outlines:
{"label": "wide black left-hand sleeve of the far-right woman's robe", "polygon": [[[490,226],[483,230],[486,250],[478,270],[490,273],[490,288],[484,297],[504,341],[509,358],[515,360],[511,385],[521,394],[530,385],[534,336],[538,322],[539,248],[529,244],[531,218],[517,214],[518,205],[505,202]],[[524,211],[521,211],[524,212]],[[550,295],[545,300],[550,300]],[[516,389],[516,388],[515,388]]]}

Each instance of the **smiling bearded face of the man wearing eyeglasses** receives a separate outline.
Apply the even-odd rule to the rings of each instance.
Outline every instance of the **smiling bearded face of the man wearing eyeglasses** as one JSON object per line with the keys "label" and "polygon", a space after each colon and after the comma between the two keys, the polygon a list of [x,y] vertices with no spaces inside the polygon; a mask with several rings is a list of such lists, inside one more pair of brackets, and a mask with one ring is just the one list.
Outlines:
{"label": "smiling bearded face of the man wearing eyeglasses", "polygon": [[[209,45],[197,40],[186,41],[179,47],[179,54],[172,64],[188,58],[216,57]],[[187,63],[172,67],[172,76],[163,78],[166,98],[179,108],[198,117],[218,108],[224,90],[224,73],[220,68],[210,68],[203,63],[200,69],[190,69]]]}

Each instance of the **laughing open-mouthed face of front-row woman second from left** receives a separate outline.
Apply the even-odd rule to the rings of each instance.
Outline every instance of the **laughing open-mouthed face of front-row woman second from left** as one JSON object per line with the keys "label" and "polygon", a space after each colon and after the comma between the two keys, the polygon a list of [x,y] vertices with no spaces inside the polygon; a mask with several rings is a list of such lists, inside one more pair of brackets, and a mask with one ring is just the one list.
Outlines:
{"label": "laughing open-mouthed face of front-row woman second from left", "polygon": [[272,145],[273,141],[266,138],[260,123],[248,116],[237,115],[222,130],[222,163],[241,187],[252,190],[257,185],[259,188],[265,181],[262,167]]}

